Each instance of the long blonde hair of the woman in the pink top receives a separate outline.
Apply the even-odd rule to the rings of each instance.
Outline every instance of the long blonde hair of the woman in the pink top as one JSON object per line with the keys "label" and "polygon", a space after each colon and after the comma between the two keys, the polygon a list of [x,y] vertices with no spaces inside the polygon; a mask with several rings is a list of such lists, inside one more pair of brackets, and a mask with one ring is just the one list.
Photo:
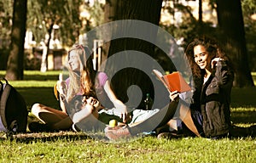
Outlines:
{"label": "long blonde hair of the woman in the pink top", "polygon": [[[80,70],[74,71],[71,69],[69,65],[67,66],[67,70],[70,78],[70,82],[67,88],[67,95],[66,95],[67,101],[70,101],[76,94],[84,92],[83,89],[81,88],[81,77],[80,77],[84,70],[86,70],[87,74],[89,74],[88,77],[94,76],[94,70],[93,70],[92,59],[91,59],[89,48],[84,47],[83,45],[80,45],[78,43],[75,43],[73,47],[68,51],[68,56],[67,56],[68,60],[70,59],[71,51],[75,52],[79,57]],[[88,87],[91,87],[91,84]]]}

